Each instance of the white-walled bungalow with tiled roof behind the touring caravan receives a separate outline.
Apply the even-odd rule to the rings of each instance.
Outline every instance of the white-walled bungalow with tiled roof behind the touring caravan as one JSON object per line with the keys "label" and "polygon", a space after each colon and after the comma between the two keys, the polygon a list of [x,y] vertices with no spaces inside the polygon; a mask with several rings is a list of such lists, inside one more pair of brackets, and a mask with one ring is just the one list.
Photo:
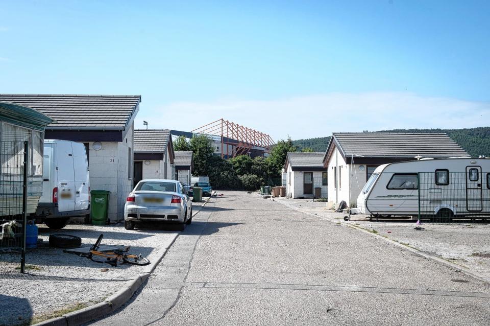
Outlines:
{"label": "white-walled bungalow with tiled roof behind the touring caravan", "polygon": [[353,207],[374,170],[393,162],[468,153],[445,133],[333,133],[324,155],[329,201]]}

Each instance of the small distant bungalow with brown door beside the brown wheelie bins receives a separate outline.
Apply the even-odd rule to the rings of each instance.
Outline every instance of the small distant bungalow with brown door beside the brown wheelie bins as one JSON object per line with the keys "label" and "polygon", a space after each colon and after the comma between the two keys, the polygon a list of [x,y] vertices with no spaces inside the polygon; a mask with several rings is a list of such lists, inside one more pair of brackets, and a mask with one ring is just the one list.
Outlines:
{"label": "small distant bungalow with brown door beside the brown wheelie bins", "polygon": [[323,152],[287,153],[284,171],[288,198],[313,198],[315,188],[321,189],[320,197],[327,198],[328,179],[327,169],[323,165],[324,156]]}

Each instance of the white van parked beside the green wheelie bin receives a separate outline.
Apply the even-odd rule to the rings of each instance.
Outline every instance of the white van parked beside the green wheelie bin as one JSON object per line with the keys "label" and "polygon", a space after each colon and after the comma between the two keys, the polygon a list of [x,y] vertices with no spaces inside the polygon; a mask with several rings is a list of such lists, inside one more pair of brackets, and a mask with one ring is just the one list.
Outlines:
{"label": "white van parked beside the green wheelie bin", "polygon": [[62,228],[71,216],[90,214],[90,182],[85,145],[45,140],[42,197],[36,219],[50,228]]}

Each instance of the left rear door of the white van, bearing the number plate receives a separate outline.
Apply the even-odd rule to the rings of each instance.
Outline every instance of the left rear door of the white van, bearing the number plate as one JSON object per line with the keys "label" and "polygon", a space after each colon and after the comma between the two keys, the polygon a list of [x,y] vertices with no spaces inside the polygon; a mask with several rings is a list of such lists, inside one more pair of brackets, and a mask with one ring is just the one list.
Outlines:
{"label": "left rear door of the white van, bearing the number plate", "polygon": [[58,211],[74,211],[75,176],[71,142],[56,142],[56,169],[58,174]]}

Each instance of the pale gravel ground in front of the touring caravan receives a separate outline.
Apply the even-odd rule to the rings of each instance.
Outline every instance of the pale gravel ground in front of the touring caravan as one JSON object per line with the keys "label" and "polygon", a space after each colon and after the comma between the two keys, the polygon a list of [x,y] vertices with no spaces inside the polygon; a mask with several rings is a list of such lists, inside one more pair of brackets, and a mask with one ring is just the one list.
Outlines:
{"label": "pale gravel ground in front of the touring caravan", "polygon": [[[344,221],[344,213],[326,209],[325,202],[311,199],[276,200],[288,207],[315,214],[330,220]],[[452,263],[477,272],[490,282],[490,225],[488,224],[433,224],[414,230],[416,220],[385,218],[369,220],[367,215],[353,215],[348,222],[391,240],[408,244],[425,253],[436,255]]]}

